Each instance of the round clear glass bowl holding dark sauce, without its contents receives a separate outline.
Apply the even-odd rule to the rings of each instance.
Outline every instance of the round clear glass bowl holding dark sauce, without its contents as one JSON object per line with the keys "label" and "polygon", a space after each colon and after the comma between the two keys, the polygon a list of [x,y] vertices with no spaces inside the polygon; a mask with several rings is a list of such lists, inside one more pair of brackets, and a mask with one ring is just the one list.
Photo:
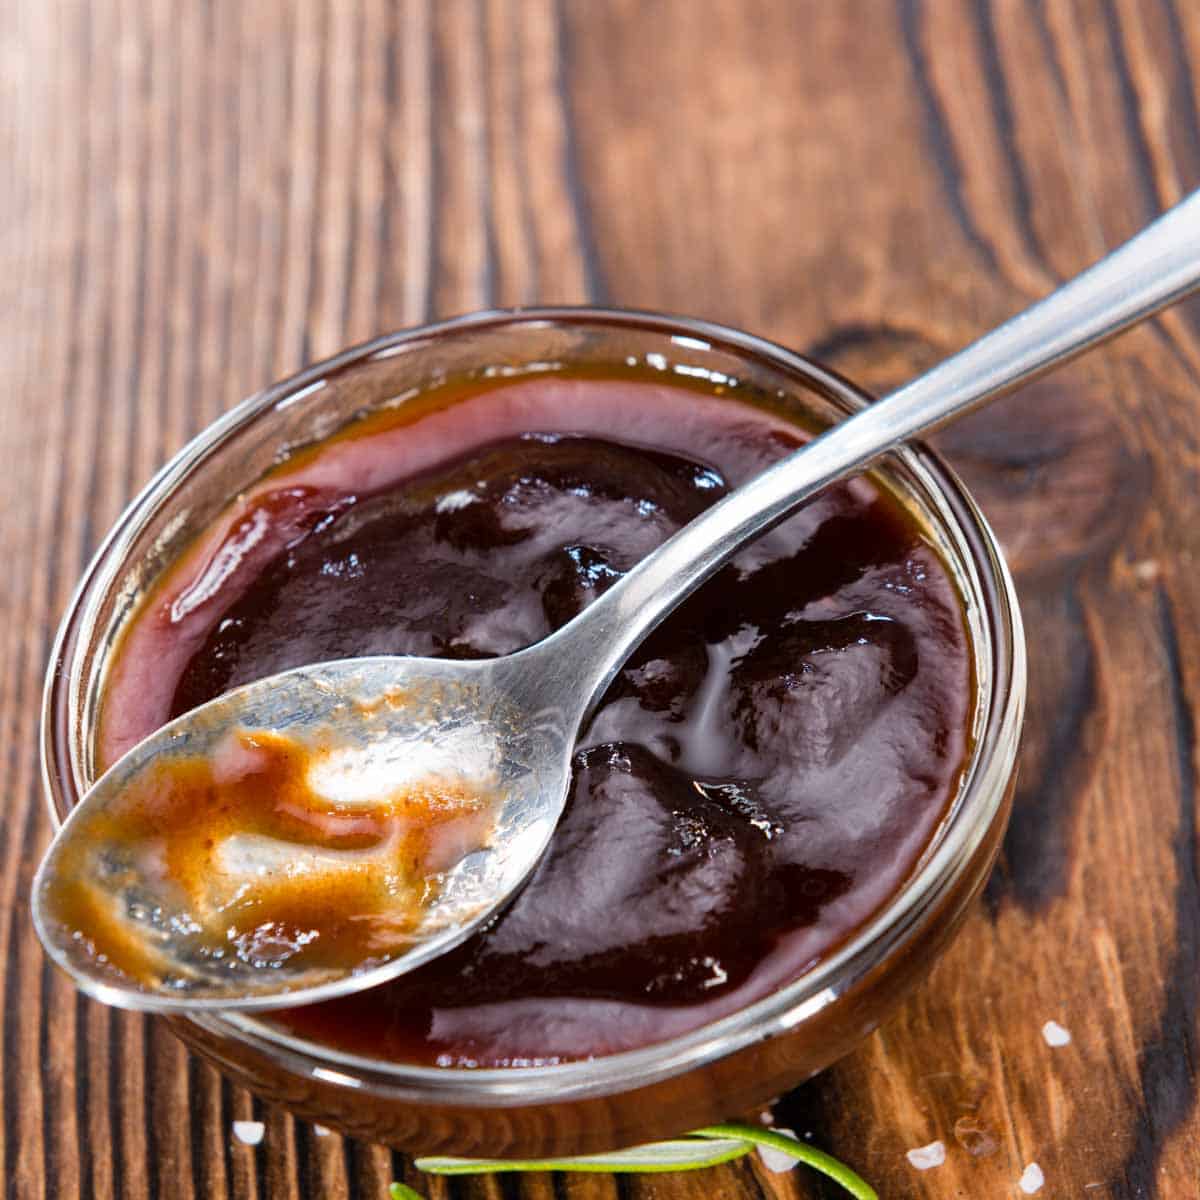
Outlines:
{"label": "round clear glass bowl holding dark sauce, without its contents", "polygon": [[[42,758],[55,826],[96,772],[106,671],[158,572],[281,457],[448,376],[518,377],[557,364],[644,364],[757,390],[820,427],[869,403],[830,371],[737,330],[593,308],[487,312],[377,338],[245,401],[185,446],[128,506],[59,630]],[[678,1134],[749,1111],[866,1037],[926,973],[995,860],[1025,702],[1013,583],[971,497],[919,445],[876,468],[914,510],[966,599],[976,716],[949,815],[892,900],[835,953],[772,995],[691,1033],[582,1062],[505,1069],[407,1066],[332,1051],[244,1014],[173,1019],[204,1058],[299,1116],[426,1153],[545,1157]]]}

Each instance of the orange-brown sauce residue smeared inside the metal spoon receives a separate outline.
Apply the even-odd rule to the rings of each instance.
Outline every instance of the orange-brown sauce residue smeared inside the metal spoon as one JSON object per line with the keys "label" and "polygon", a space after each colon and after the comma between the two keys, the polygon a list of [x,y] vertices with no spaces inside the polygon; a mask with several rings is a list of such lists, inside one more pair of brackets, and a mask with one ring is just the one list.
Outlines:
{"label": "orange-brown sauce residue smeared inside the metal spoon", "polygon": [[[337,760],[336,746],[260,730],[161,757],[89,815],[50,916],[145,986],[185,988],[188,962],[312,978],[394,956],[443,872],[486,844],[494,797],[438,776],[347,794]],[[154,892],[122,887],[121,872]],[[178,950],[156,953],[155,929],[186,947],[182,967]]]}

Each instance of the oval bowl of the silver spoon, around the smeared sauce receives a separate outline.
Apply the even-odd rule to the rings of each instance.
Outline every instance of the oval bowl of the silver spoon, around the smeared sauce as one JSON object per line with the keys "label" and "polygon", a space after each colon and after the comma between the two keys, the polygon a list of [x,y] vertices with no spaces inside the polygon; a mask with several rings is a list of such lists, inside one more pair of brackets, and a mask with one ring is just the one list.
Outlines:
{"label": "oval bowl of the silver spoon, around the smeared sauce", "polygon": [[[518,658],[323,662],[247,684],[163,726],[96,782],[42,862],[34,919],[50,956],[83,991],[122,1008],[252,1010],[372,986],[457,946],[539,860],[570,781],[574,728],[560,708],[535,709],[517,694]],[[212,762],[236,778],[254,768],[264,733],[300,750],[317,803],[330,812],[353,817],[380,797],[413,791],[484,806],[478,845],[452,848],[449,865],[431,871],[416,923],[371,959],[314,964],[294,941],[272,940],[264,953],[260,943],[223,936],[228,898],[239,889],[280,876],[305,887],[343,865],[336,852],[277,838],[227,839],[205,863],[198,899],[163,871],[157,830],[132,844],[113,835],[127,798],[161,791],[173,763]],[[344,853],[350,868],[362,865],[361,852]],[[143,948],[134,974],[65,919],[56,894],[65,880],[120,941]]]}

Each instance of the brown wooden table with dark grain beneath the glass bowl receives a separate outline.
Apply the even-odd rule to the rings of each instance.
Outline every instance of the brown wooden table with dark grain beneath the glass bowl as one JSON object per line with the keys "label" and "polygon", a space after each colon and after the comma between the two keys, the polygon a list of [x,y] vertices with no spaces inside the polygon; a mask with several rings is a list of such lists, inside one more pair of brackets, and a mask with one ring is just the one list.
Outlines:
{"label": "brown wooden table with dark grain beneath the glass bowl", "polygon": [[[1196,185],[1198,64],[1188,0],[0,5],[7,1195],[834,1195],[751,1160],[421,1181],[78,997],[28,913],[52,632],[170,452],[396,326],[612,302],[902,380]],[[1200,308],[941,444],[1025,606],[1012,829],[932,980],[779,1118],[889,1198],[1020,1196],[1031,1162],[1045,1196],[1195,1198]]]}

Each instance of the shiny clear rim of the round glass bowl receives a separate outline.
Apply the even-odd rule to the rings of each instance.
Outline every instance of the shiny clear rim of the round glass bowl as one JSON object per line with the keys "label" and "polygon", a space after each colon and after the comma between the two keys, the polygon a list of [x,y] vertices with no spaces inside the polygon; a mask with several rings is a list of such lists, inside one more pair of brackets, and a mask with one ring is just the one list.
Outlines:
{"label": "shiny clear rim of the round glass bowl", "polygon": [[[54,734],[60,707],[70,706],[78,680],[77,662],[64,654],[74,637],[78,652],[90,632],[89,617],[118,575],[125,551],[149,516],[166,503],[179,479],[200,460],[218,451],[232,433],[268,413],[281,401],[312,388],[320,380],[397,353],[415,353],[439,340],[500,326],[539,325],[629,329],[643,334],[694,338],[719,346],[724,352],[766,362],[799,377],[810,389],[845,412],[871,398],[836,372],[793,350],[752,334],[714,322],[630,308],[592,306],[544,306],[499,308],[452,317],[431,324],[385,334],[314,362],[250,396],[200,431],[145,485],[118,517],[77,586],[59,625],[47,670],[42,703],[42,778],[56,830],[64,815],[85,788],[85,778],[74,761],[60,762],[60,743]],[[329,1084],[420,1102],[437,1100],[466,1106],[564,1100],[604,1096],[635,1085],[714,1063],[746,1045],[794,1030],[864,979],[904,943],[938,898],[947,894],[968,868],[1002,815],[1008,784],[1015,769],[1016,749],[1025,707],[1025,638],[1012,576],[990,526],[970,493],[941,458],[923,443],[913,443],[889,455],[910,473],[922,478],[930,493],[943,502],[940,516],[970,552],[986,604],[983,620],[989,634],[991,672],[988,683],[977,683],[986,702],[976,751],[961,791],[941,839],[893,900],[835,953],[811,971],[778,991],[690,1033],[637,1050],[590,1060],[532,1067],[454,1068],[424,1067],[343,1054],[270,1026],[247,1014],[204,1014],[186,1018],[217,1037],[230,1038],[265,1051],[286,1069]],[[76,653],[76,660],[78,660]],[[73,758],[73,756],[72,756]]]}

